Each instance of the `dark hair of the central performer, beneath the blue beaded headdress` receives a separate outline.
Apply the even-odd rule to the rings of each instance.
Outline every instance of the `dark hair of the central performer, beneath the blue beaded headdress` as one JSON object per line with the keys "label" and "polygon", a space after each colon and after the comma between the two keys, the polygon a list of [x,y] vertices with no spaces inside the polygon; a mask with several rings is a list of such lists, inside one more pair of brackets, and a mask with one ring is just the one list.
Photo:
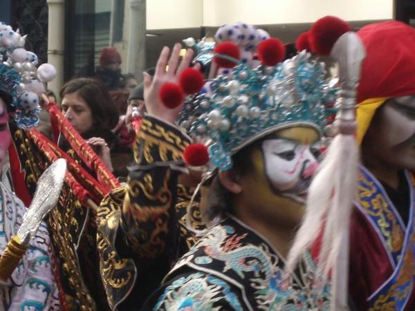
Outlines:
{"label": "dark hair of the central performer, beneath the blue beaded headdress", "polygon": [[[230,173],[236,176],[244,176],[246,173],[250,173],[252,169],[250,154],[262,141],[263,139],[253,142],[234,154],[234,156],[232,156],[233,164]],[[232,194],[223,187],[222,182],[219,180],[219,176],[216,173],[216,176],[212,178],[212,184],[210,185],[208,206],[206,207],[204,216],[209,221],[212,221],[215,218],[220,218],[225,211],[230,211],[231,209]]]}

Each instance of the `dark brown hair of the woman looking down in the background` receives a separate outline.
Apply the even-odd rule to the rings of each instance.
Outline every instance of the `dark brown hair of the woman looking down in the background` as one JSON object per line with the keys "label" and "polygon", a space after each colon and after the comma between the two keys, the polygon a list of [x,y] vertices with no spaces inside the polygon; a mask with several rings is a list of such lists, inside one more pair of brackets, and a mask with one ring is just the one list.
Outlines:
{"label": "dark brown hair of the woman looking down in the background", "polygon": [[71,93],[82,97],[91,109],[95,133],[100,133],[100,130],[111,130],[118,124],[116,105],[102,82],[91,78],[73,79],[62,86],[59,95],[63,100],[66,94]]}

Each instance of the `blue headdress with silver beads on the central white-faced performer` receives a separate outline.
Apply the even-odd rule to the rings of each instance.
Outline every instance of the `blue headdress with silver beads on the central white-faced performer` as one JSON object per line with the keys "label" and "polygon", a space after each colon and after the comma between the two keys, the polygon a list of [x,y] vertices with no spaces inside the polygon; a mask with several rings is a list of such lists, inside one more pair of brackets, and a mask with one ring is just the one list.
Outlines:
{"label": "blue headdress with silver beads on the central white-faced performer", "polygon": [[239,62],[185,103],[178,124],[209,142],[215,167],[230,169],[234,153],[277,129],[303,125],[322,132],[336,97],[325,73],[324,63],[305,50],[277,66],[250,69]]}

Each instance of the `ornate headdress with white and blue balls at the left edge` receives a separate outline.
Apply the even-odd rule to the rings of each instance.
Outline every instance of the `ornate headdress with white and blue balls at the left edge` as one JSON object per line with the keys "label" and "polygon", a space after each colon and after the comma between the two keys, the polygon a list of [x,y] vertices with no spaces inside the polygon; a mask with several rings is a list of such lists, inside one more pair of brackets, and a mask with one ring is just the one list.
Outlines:
{"label": "ornate headdress with white and blue balls at the left edge", "polygon": [[44,83],[56,75],[55,68],[43,64],[37,68],[37,55],[24,49],[26,36],[0,24],[0,93],[17,125],[31,129],[39,121],[39,97]]}

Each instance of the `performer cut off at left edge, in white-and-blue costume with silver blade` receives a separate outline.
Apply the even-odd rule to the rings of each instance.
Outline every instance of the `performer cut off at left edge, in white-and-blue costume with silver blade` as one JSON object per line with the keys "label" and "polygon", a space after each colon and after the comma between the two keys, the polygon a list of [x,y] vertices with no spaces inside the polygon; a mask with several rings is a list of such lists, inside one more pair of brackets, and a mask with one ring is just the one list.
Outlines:
{"label": "performer cut off at left edge, in white-and-blue costume with silver blade", "polygon": [[[53,79],[54,68],[45,64],[37,69],[37,56],[23,48],[25,38],[10,26],[1,23],[0,37],[4,61],[0,65],[2,169],[10,145],[8,122],[15,122],[23,129],[37,124],[39,97],[36,93],[44,92],[44,84],[39,79]],[[40,189],[30,209],[0,182],[0,310],[61,310],[52,269],[52,245],[42,218],[59,197],[66,171],[62,161],[39,179]]]}

